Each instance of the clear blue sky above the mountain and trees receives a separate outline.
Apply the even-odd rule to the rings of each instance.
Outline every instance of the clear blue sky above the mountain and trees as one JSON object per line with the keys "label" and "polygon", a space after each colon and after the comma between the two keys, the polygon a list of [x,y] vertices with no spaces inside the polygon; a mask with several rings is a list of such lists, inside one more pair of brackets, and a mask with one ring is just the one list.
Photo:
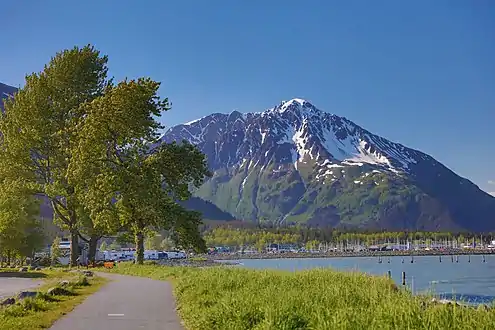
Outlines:
{"label": "clear blue sky above the mountain and trees", "polygon": [[94,44],[166,125],[301,97],[495,191],[495,1],[4,1],[0,81]]}

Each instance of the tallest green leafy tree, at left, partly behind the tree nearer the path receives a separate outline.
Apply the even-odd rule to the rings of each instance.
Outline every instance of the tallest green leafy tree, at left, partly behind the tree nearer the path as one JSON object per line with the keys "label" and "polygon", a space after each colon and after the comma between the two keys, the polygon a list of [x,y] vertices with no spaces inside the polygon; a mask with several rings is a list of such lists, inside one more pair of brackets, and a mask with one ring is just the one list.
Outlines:
{"label": "tallest green leafy tree, at left, partly behind the tree nearer the path", "polygon": [[65,50],[42,72],[26,77],[25,86],[5,102],[0,120],[6,159],[0,172],[22,178],[37,194],[48,197],[55,222],[70,232],[72,266],[79,256],[80,205],[67,169],[78,124],[85,117],[84,105],[102,95],[107,85],[105,56],[91,46]]}

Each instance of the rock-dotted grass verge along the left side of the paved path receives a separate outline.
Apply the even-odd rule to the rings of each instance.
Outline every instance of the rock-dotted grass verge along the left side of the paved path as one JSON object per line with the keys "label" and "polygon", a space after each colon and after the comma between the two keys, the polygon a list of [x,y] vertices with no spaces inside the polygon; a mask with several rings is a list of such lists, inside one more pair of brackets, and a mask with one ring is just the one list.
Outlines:
{"label": "rock-dotted grass verge along the left side of the paved path", "polygon": [[[20,276],[43,278],[45,283],[35,290],[27,290],[39,292],[35,298],[26,298],[15,305],[0,307],[0,330],[47,329],[107,282],[101,277],[87,277],[86,283],[81,275],[62,270],[19,273]],[[63,280],[69,281],[65,288],[72,293],[71,295],[46,295],[49,288],[60,287],[59,283]]]}

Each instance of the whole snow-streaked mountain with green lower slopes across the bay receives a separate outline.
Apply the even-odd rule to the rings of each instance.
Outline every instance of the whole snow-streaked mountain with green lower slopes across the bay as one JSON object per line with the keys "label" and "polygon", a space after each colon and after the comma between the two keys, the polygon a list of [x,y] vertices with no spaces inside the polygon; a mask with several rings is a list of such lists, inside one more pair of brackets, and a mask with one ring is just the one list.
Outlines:
{"label": "whole snow-streaked mountain with green lower slopes across the bay", "polygon": [[239,218],[484,230],[495,214],[494,198],[431,156],[302,99],[214,113],[160,140],[196,144],[215,172],[196,194]]}

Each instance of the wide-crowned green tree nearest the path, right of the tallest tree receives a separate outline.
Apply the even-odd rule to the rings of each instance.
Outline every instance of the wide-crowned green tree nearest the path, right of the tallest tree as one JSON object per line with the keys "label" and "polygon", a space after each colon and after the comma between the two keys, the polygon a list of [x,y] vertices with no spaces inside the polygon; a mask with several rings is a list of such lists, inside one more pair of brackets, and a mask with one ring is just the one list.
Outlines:
{"label": "wide-crowned green tree nearest the path, right of the tallest tree", "polygon": [[158,87],[151,79],[123,81],[86,104],[70,170],[93,222],[111,227],[118,219],[133,234],[138,263],[148,230],[170,230],[179,244],[205,248],[200,217],[176,203],[209,175],[205,157],[186,142],[150,148],[161,128],[155,117],[169,109]]}

